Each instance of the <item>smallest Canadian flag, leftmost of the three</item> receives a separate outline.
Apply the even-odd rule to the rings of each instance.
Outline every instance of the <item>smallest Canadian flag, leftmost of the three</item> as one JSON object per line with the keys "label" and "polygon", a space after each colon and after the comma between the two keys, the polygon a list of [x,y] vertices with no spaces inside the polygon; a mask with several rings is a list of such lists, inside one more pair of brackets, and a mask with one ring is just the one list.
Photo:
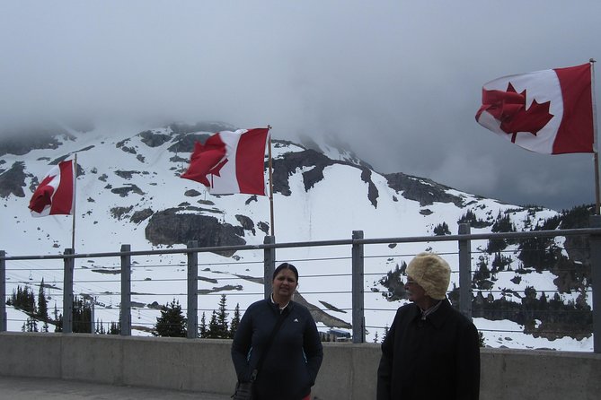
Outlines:
{"label": "smallest Canadian flag, leftmost of the three", "polygon": [[73,161],[61,161],[49,170],[31,196],[29,208],[34,217],[73,213],[75,169]]}

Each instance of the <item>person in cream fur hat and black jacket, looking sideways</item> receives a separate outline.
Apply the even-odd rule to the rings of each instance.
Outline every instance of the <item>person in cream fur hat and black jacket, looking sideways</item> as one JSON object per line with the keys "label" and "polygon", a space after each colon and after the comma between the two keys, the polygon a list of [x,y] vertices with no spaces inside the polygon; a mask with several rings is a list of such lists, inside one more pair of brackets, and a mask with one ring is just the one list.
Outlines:
{"label": "person in cream fur hat and black jacket, looking sideways", "polygon": [[396,311],[382,343],[377,400],[473,400],[480,395],[480,341],[446,299],[451,269],[433,253],[407,266],[411,304]]}

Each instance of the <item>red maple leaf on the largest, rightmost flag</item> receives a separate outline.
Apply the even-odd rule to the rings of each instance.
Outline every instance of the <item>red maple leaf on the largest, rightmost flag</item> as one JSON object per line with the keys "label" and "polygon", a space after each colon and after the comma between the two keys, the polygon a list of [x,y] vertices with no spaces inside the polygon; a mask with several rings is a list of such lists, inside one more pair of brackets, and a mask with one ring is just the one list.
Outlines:
{"label": "red maple leaf on the largest, rightmost flag", "polygon": [[483,105],[479,110],[487,111],[491,116],[500,121],[500,129],[512,135],[511,142],[516,142],[517,132],[528,132],[536,135],[552,119],[549,113],[551,101],[539,103],[533,100],[526,109],[526,89],[517,93],[511,83],[507,91],[482,91]]}

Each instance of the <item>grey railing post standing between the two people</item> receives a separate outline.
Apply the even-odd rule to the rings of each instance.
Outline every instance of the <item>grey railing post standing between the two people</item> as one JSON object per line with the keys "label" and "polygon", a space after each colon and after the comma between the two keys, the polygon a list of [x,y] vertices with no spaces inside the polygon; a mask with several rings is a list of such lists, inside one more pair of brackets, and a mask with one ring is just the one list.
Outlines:
{"label": "grey railing post standing between the two people", "polygon": [[353,230],[352,248],[352,306],[353,306],[353,343],[365,343],[365,306],[364,306],[364,259],[363,244],[354,243],[363,239],[363,230]]}

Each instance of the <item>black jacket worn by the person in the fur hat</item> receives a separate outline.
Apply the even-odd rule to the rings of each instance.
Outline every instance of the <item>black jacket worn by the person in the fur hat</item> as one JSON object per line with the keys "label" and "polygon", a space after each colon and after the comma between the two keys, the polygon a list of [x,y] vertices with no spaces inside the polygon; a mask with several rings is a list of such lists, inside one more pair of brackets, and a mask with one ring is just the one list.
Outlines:
{"label": "black jacket worn by the person in the fur hat", "polygon": [[382,343],[377,400],[473,400],[480,392],[478,331],[448,300],[425,320],[408,304]]}

